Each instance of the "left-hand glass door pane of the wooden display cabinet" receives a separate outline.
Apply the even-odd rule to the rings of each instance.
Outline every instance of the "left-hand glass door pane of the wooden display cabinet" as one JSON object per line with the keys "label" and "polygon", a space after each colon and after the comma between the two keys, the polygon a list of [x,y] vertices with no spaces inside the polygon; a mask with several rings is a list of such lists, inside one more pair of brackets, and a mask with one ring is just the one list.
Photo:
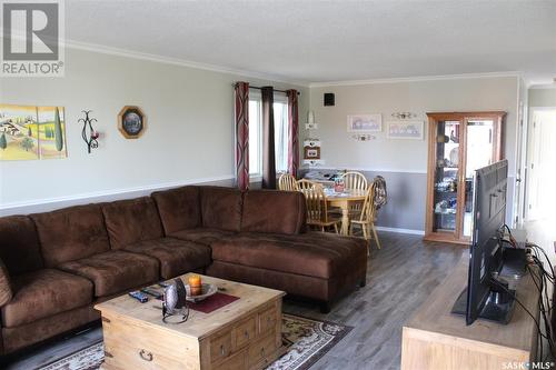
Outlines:
{"label": "left-hand glass door pane of the wooden display cabinet", "polygon": [[461,121],[438,121],[434,167],[434,232],[456,232]]}

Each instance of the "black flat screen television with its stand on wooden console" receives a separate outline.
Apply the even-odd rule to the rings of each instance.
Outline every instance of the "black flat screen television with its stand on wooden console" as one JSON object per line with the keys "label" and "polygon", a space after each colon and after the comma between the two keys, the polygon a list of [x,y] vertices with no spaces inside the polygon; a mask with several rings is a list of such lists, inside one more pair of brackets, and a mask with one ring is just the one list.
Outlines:
{"label": "black flat screen television with its stand on wooden console", "polygon": [[506,257],[510,254],[505,252],[502,241],[506,219],[507,178],[507,160],[475,171],[468,281],[453,309],[454,313],[465,314],[467,324],[471,324],[477,318],[503,323],[509,322],[512,318],[515,291],[500,277]]}

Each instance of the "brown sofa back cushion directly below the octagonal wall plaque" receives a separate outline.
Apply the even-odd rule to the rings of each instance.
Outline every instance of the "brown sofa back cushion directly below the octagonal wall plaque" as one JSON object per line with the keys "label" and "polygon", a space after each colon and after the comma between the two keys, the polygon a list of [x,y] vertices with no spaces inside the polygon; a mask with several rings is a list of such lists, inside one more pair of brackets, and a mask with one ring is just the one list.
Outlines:
{"label": "brown sofa back cushion directly below the octagonal wall plaque", "polygon": [[102,213],[112,249],[162,237],[157,206],[149,197],[103,203]]}

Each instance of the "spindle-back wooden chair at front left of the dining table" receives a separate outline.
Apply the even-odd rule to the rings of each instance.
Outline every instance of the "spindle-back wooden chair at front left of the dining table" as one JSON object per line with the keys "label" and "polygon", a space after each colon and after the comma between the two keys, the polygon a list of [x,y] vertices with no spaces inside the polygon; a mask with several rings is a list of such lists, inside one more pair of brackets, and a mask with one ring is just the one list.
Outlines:
{"label": "spindle-back wooden chair at front left of the dining table", "polygon": [[312,187],[301,189],[301,192],[306,199],[307,224],[317,227],[322,232],[327,228],[332,227],[334,231],[338,233],[338,224],[341,222],[341,219],[334,218],[328,213],[325,188],[314,182]]}

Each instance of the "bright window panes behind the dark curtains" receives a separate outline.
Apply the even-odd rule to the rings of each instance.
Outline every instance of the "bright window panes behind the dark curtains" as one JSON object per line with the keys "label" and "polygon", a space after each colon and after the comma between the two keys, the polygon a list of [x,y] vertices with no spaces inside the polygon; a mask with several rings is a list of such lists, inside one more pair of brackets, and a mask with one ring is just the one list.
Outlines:
{"label": "bright window panes behind the dark curtains", "polygon": [[[276,172],[288,170],[288,99],[275,93]],[[262,102],[260,93],[249,92],[249,174],[262,174]]]}

